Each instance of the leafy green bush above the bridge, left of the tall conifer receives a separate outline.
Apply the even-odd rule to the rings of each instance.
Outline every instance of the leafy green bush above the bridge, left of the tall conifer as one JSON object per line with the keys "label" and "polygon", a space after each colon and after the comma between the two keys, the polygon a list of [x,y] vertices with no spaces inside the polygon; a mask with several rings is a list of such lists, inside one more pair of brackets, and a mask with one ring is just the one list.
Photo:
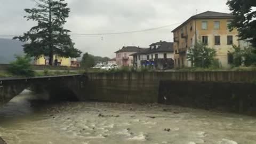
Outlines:
{"label": "leafy green bush above the bridge, left of the tall conifer", "polygon": [[25,76],[31,77],[34,76],[35,73],[31,68],[31,58],[28,56],[21,57],[15,56],[16,60],[10,63],[9,68],[7,69],[9,73],[15,76]]}

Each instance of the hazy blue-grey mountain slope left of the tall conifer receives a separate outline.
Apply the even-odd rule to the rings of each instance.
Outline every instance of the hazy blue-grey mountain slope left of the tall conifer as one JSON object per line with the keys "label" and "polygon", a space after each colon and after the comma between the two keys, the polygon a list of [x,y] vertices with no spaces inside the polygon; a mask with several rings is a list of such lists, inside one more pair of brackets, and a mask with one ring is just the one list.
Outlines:
{"label": "hazy blue-grey mountain slope left of the tall conifer", "polygon": [[16,40],[0,38],[0,63],[9,63],[15,60],[15,54],[22,55],[22,45],[22,42]]}

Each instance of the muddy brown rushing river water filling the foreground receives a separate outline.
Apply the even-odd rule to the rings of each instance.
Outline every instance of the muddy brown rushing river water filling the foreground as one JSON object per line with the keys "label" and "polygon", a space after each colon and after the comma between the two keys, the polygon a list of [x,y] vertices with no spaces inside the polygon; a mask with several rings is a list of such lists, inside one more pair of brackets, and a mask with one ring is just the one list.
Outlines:
{"label": "muddy brown rushing river water filling the foreground", "polygon": [[0,109],[9,144],[256,143],[256,118],[165,105],[30,101],[25,91]]}

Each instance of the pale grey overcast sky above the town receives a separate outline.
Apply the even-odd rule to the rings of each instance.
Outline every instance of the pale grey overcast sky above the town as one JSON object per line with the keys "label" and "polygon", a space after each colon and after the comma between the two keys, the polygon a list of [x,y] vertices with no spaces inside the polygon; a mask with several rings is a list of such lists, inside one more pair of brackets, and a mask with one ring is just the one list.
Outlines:
{"label": "pale grey overcast sky above the town", "polygon": [[[66,28],[72,33],[99,34],[142,30],[172,25],[204,11],[229,12],[226,0],[66,0],[71,9]],[[35,6],[32,0],[0,1],[0,34],[20,35],[35,25],[26,21],[23,9]],[[115,57],[125,46],[148,47],[157,41],[173,42],[178,25],[143,33],[78,36],[71,38],[76,47],[93,55]],[[3,36],[0,36],[3,37]],[[7,38],[7,37],[6,37]]]}

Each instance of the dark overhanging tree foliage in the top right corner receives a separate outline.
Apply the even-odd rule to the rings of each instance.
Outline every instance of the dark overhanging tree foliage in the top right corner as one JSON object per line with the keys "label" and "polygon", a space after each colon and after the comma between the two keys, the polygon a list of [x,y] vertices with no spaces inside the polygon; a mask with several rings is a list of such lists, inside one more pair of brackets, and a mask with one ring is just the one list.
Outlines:
{"label": "dark overhanging tree foliage in the top right corner", "polygon": [[229,10],[235,16],[230,23],[230,30],[237,28],[240,39],[249,39],[252,45],[256,46],[256,6],[255,0],[228,0]]}

